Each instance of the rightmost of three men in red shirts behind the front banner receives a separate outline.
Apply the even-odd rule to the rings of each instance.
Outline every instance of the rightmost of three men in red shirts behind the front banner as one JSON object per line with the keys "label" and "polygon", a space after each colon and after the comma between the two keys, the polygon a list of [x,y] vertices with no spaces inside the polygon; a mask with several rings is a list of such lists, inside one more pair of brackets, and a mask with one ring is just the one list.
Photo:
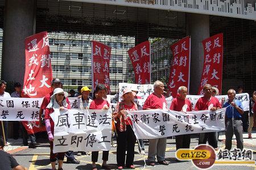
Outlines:
{"label": "rightmost of three men in red shirts behind the front banner", "polygon": [[[216,111],[217,109],[221,108],[220,101],[216,97],[212,96],[212,86],[210,84],[205,84],[203,87],[204,96],[200,97],[197,100],[195,111]],[[199,145],[206,144],[208,139],[208,143],[210,146],[217,150],[218,148],[218,141],[216,138],[216,132],[209,132],[209,133],[200,133],[199,134]]]}

